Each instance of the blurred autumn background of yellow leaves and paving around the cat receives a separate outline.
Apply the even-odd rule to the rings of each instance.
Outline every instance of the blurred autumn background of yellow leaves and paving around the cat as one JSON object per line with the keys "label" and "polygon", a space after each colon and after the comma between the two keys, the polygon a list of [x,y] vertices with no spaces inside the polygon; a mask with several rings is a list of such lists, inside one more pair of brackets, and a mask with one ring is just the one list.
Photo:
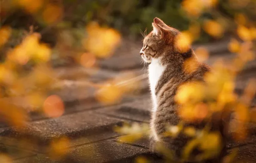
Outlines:
{"label": "blurred autumn background of yellow leaves and paving around the cat", "polygon": [[[216,103],[232,103],[238,120],[226,163],[256,162],[255,9],[255,0],[0,0],[0,162],[161,161],[138,140],[151,108],[139,51],[155,17],[219,70]],[[113,130],[123,122],[132,125]]]}

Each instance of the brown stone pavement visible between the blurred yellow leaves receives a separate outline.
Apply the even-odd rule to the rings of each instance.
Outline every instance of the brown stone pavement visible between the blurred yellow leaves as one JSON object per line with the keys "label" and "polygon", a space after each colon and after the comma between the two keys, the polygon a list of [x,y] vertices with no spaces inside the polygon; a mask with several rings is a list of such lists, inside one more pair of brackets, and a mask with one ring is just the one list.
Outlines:
{"label": "brown stone pavement visible between the blurred yellow leaves", "polygon": [[[207,63],[211,65],[220,57],[224,60],[234,57],[228,51],[227,44],[228,40],[223,40],[195,45],[194,48],[206,47],[210,51]],[[81,66],[55,68],[58,78],[72,83],[52,92],[64,101],[64,115],[47,118],[37,112],[29,112],[30,121],[22,131],[0,122],[0,153],[11,157],[13,163],[133,163],[136,160],[144,163],[141,159],[144,157],[151,162],[164,162],[149,153],[147,139],[121,144],[117,141],[120,134],[113,131],[114,126],[122,125],[123,122],[149,123],[151,100],[146,79],[138,84],[136,91],[125,95],[118,103],[108,105],[95,100],[95,88],[82,84],[83,81],[99,83],[129,72],[135,75],[144,74],[138,53],[140,47],[140,42],[125,40],[113,57],[98,61],[99,69],[96,70]],[[254,60],[238,76],[236,91],[241,92],[248,79],[255,76]],[[13,103],[24,108],[29,107],[22,104],[22,100],[13,100]],[[255,106],[255,98],[253,105]],[[238,148],[234,163],[256,163],[254,122],[250,122],[249,131],[248,138],[244,141],[229,140],[230,152]],[[61,138],[68,140],[68,143],[64,141],[59,145],[59,151],[64,149],[64,154],[60,152],[59,157],[52,156],[49,145],[53,140]]]}

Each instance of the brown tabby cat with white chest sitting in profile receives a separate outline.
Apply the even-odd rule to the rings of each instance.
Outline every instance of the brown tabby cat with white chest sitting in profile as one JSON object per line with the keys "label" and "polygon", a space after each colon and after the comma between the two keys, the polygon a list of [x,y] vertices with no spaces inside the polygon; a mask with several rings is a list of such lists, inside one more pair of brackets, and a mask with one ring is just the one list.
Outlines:
{"label": "brown tabby cat with white chest sitting in profile", "polygon": [[[174,100],[178,86],[185,82],[204,81],[204,74],[210,71],[206,64],[199,63],[192,48],[185,52],[180,49],[175,40],[180,31],[166,25],[161,19],[154,18],[153,30],[143,39],[143,47],[140,55],[148,67],[149,86],[152,95],[151,127],[151,151],[155,151],[154,145],[162,142],[174,151],[174,160],[180,160],[183,148],[188,142],[188,137],[180,134],[176,138],[166,138],[162,134],[166,130],[166,124],[177,125],[180,117],[177,113],[178,105]],[[186,72],[183,68],[185,60],[193,59],[198,67],[193,72]],[[202,124],[187,124],[195,128],[202,128]],[[212,130],[218,130],[223,136],[223,148],[220,155],[209,162],[220,162],[226,152],[225,131],[221,123],[215,124]],[[193,158],[191,162],[193,162]],[[190,161],[189,161],[190,162]]]}

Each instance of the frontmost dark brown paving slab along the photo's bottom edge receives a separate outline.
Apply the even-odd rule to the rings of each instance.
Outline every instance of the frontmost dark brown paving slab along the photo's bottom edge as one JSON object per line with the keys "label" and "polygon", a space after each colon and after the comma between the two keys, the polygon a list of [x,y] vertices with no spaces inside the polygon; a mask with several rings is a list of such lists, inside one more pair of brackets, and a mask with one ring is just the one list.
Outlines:
{"label": "frontmost dark brown paving slab along the photo's bottom edge", "polygon": [[[60,163],[113,163],[133,162],[140,154],[149,153],[146,149],[115,142],[98,142],[91,145],[82,145],[67,151],[66,157],[59,160]],[[49,157],[30,157],[17,160],[14,163],[55,163]],[[70,162],[70,163],[71,163]]]}

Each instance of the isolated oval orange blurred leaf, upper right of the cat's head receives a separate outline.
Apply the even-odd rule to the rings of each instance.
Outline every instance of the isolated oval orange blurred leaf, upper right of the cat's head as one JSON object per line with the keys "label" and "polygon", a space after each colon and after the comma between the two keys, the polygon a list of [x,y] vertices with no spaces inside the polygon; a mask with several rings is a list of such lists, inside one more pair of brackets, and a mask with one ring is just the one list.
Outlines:
{"label": "isolated oval orange blurred leaf, upper right of the cat's head", "polygon": [[221,37],[224,32],[222,25],[213,20],[204,21],[203,28],[210,36],[217,38]]}

